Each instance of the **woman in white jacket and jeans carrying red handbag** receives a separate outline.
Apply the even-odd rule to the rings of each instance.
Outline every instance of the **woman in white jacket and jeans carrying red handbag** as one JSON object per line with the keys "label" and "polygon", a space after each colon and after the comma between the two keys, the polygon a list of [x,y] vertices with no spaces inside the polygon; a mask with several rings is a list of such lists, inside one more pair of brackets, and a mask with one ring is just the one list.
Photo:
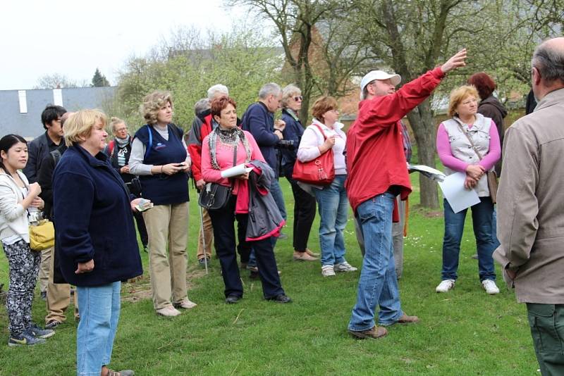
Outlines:
{"label": "woman in white jacket and jeans carrying red handbag", "polygon": [[[319,246],[321,248],[321,275],[334,276],[335,272],[354,272],[357,268],[345,260],[343,230],[347,224],[348,199],[345,191],[347,169],[345,165],[346,135],[338,123],[337,101],[331,96],[321,96],[312,108],[312,125],[306,128],[298,161],[305,163],[319,159],[324,153],[333,154],[333,166],[321,166],[324,171],[332,168],[335,178],[326,185],[314,186],[313,192],[319,207]],[[324,161],[331,158],[325,158]],[[327,162],[330,163],[330,162]]]}

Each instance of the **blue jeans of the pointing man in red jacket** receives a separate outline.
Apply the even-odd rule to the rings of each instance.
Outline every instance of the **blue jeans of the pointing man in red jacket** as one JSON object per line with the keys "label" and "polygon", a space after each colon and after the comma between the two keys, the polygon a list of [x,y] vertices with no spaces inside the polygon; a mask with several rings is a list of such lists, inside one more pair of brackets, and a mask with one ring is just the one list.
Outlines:
{"label": "blue jeans of the pointing man in red jacket", "polygon": [[395,201],[396,196],[386,192],[364,201],[357,208],[357,220],[364,238],[364,259],[357,303],[348,324],[350,330],[374,327],[376,304],[380,306],[380,325],[392,325],[403,315],[393,261],[392,212]]}

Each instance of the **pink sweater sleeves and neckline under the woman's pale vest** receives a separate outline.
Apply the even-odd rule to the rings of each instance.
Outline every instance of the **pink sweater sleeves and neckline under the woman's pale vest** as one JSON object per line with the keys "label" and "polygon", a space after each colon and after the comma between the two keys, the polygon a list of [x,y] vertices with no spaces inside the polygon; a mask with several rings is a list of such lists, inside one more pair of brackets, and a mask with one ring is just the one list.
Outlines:
{"label": "pink sweater sleeves and neckline under the woman's pale vest", "polygon": [[[472,125],[468,125],[471,128]],[[501,146],[499,144],[499,134],[498,128],[494,120],[491,120],[491,126],[489,127],[489,150],[488,153],[479,161],[477,164],[481,165],[486,171],[494,167],[499,158],[501,158]],[[439,159],[441,163],[451,170],[460,171],[461,173],[466,172],[466,168],[470,165],[464,161],[453,156],[453,152],[450,150],[450,142],[448,141],[448,133],[445,130],[443,123],[439,125],[439,130],[436,132],[436,151],[439,153]]]}

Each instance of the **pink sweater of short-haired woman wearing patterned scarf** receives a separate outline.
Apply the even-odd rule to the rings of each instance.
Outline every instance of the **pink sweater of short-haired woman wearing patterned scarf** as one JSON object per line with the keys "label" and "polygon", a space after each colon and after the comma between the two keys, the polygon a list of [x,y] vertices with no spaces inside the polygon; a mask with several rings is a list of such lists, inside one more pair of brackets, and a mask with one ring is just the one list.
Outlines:
{"label": "pink sweater of short-haired woman wearing patterned scarf", "polygon": [[[258,159],[259,161],[264,161],[264,157],[260,152],[259,146],[255,141],[255,138],[252,137],[252,134],[244,130],[245,137],[247,137],[247,141],[249,142],[249,146],[251,149],[251,161],[254,159]],[[226,170],[228,168],[233,167],[233,150],[228,149],[218,137],[218,141],[216,144],[216,159],[217,164],[221,170],[214,170],[212,168],[212,158],[209,156],[209,143],[208,143],[209,135],[204,138],[202,142],[202,178],[205,182],[213,182],[219,183],[221,185],[225,185],[227,187],[231,186],[231,182],[221,177],[221,170]],[[247,151],[245,151],[245,146],[243,146],[243,142],[239,142],[237,146],[237,163],[235,165],[240,165],[241,163],[245,163],[245,159],[247,158]],[[238,194],[240,191],[240,194]],[[236,213],[248,213],[249,208],[249,194],[248,194],[248,184],[247,180],[239,180],[235,179],[235,184],[233,184],[233,194],[237,194],[237,204],[235,208]]]}

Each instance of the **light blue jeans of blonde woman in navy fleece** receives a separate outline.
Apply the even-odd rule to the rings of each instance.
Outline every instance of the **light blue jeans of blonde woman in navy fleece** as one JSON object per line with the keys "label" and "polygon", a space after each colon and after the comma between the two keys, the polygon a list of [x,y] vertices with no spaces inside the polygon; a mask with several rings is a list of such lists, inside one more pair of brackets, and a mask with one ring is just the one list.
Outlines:
{"label": "light blue jeans of blonde woman in navy fleece", "polygon": [[78,376],[100,375],[109,365],[118,328],[121,282],[77,287],[80,322],[76,334]]}

